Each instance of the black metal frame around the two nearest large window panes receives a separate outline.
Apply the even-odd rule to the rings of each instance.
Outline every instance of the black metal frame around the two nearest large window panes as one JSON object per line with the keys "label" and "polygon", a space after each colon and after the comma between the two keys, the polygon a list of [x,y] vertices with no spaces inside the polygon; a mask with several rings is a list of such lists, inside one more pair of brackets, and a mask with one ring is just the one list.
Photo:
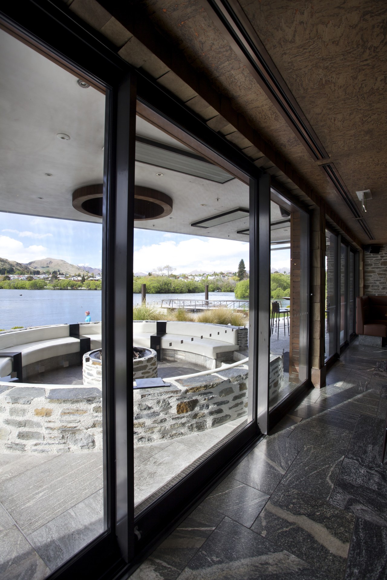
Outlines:
{"label": "black metal frame around the two nearest large window panes", "polygon": [[[119,230],[115,223],[115,214],[118,212],[118,209],[122,212],[126,212],[126,223],[130,222],[132,218],[132,207],[128,202],[129,198],[126,198],[126,201],[121,200],[122,206],[120,206],[120,208],[115,208],[117,200],[115,200],[114,196],[111,195],[111,192],[115,191],[115,188],[120,186],[118,183],[120,175],[117,177],[116,171],[113,171],[113,169],[120,164],[126,164],[126,167],[131,163],[134,164],[133,152],[135,139],[132,137],[133,114],[135,114],[133,113],[135,89],[133,88],[132,69],[115,54],[113,47],[110,47],[106,39],[100,37],[97,32],[80,21],[74,14],[69,13],[62,2],[56,3],[50,2],[49,0],[21,0],[17,3],[9,3],[8,6],[3,7],[0,17],[3,21],[8,22],[10,27],[15,28],[15,30],[19,31],[21,34],[30,37],[32,41],[36,41],[40,45],[46,46],[49,52],[56,53],[62,59],[74,63],[74,67],[78,70],[83,70],[88,77],[94,78],[97,82],[101,82],[106,86],[106,109],[108,112],[106,132],[108,139],[110,139],[110,147],[106,147],[105,167],[110,168],[110,170],[104,174],[104,187],[107,191],[107,195],[105,195],[104,198],[104,215],[106,216],[106,221],[104,222],[103,229],[103,267],[106,271],[106,282],[104,287],[103,316],[105,317],[107,324],[106,332],[104,333],[103,348],[106,349],[106,351],[114,350],[117,338],[122,340],[121,344],[126,345],[126,343],[131,340],[132,332],[132,324],[122,324],[122,311],[118,311],[118,308],[128,310],[128,301],[126,300],[126,302],[124,301],[121,304],[115,303],[117,302],[117,292],[115,292],[116,288],[114,288],[113,284],[113,281],[118,282],[120,280],[118,277],[120,266],[124,265],[126,271],[132,271],[131,252],[126,252],[126,255],[124,255],[125,249],[128,249],[130,242],[128,228],[126,228],[126,230],[125,228]],[[259,340],[255,347],[255,360],[258,358],[258,351],[262,353],[262,356],[258,360],[256,378],[263,385],[266,384],[266,393],[264,392],[263,396],[260,396],[260,390],[258,390],[258,397],[255,400],[255,414],[258,418],[261,432],[266,433],[270,344],[269,295],[267,292],[267,285],[269,284],[270,277],[270,260],[268,258],[270,240],[269,235],[266,235],[265,231],[267,232],[269,230],[267,229],[267,223],[269,223],[270,220],[270,177],[269,175],[262,173],[259,168],[247,160],[247,158],[238,151],[236,147],[227,143],[223,137],[209,129],[201,119],[194,115],[194,113],[175,100],[172,95],[169,95],[167,90],[161,89],[160,86],[155,85],[154,82],[150,81],[150,79],[146,78],[144,75],[136,74],[135,76],[138,77],[139,81],[138,95],[140,99],[143,99],[148,105],[155,103],[155,100],[157,100],[157,110],[160,111],[160,108],[164,107],[164,113],[167,112],[168,115],[170,114],[173,118],[173,122],[182,127],[184,131],[191,133],[195,139],[204,143],[205,146],[213,148],[220,157],[230,159],[233,165],[237,166],[241,171],[245,172],[246,175],[250,176],[250,182],[252,184],[251,199],[255,204],[255,211],[251,212],[253,218],[250,220],[250,230],[253,231],[256,236],[256,246],[251,250],[251,262],[256,264],[256,271],[258,271],[259,264],[260,270],[259,284],[255,288],[254,284],[252,285],[252,293],[254,294],[256,305],[258,306],[254,312],[254,316],[257,322],[259,322],[259,329],[263,329],[263,332],[259,332],[257,324],[256,335],[259,336]],[[131,107],[128,107],[129,101],[132,103]],[[131,111],[127,111],[126,117],[124,114],[125,107],[131,109]],[[117,133],[116,127],[118,124],[118,118],[120,118],[120,121],[124,119],[124,125],[122,125],[122,131],[118,131]],[[129,138],[129,135],[132,135],[132,137]],[[117,142],[120,144],[120,147],[124,144],[124,147],[121,150],[121,157],[116,157],[115,152]],[[121,175],[121,179],[123,180],[121,187],[126,187],[126,190],[130,193],[131,187],[134,185],[134,183],[130,181],[131,177],[126,173],[126,175]],[[121,242],[122,250],[118,256],[117,251],[115,251],[117,242]],[[118,315],[120,315],[120,317]],[[119,324],[118,318],[121,318],[121,325]],[[124,353],[124,349],[121,349],[121,354],[122,353]],[[124,358],[120,358],[121,362],[118,361],[120,362],[120,364],[118,364],[118,372],[124,372],[125,370],[125,379],[126,374],[131,376],[130,372],[132,364],[131,358],[130,360],[125,358],[126,354],[127,353],[124,353]],[[122,361],[125,361],[125,365]],[[117,367],[117,356],[115,357],[115,365]],[[123,368],[124,366],[125,369]],[[117,368],[115,369],[113,367],[114,365],[109,364],[108,358],[106,358],[104,374],[106,376],[107,385],[113,384],[114,374],[117,376]],[[115,411],[117,408],[115,409],[115,405],[121,403],[121,407],[126,407],[126,414],[130,414],[131,412],[131,397],[126,396],[123,391],[120,393],[120,396],[123,397],[121,401],[118,400],[118,398],[114,398],[117,397],[117,391],[113,393],[107,389],[106,416],[104,416],[104,442],[106,443],[106,445],[104,445],[105,466],[107,462],[107,454],[109,454],[111,458],[110,465],[112,465],[114,459],[117,459],[115,453],[117,444],[116,437],[120,425],[117,425],[119,421],[117,422],[116,420],[117,417]],[[125,417],[122,420],[125,420]],[[215,458],[214,461],[213,459],[212,463],[214,464],[214,469],[211,474],[207,473],[207,480],[205,481],[205,478],[198,477],[198,473],[195,474],[198,484],[202,488],[202,492],[209,490],[211,486],[214,485],[216,478],[222,476],[222,474],[233,465],[233,462],[236,462],[238,458],[241,457],[246,449],[249,448],[249,445],[256,441],[260,433],[256,423],[249,425],[246,432],[248,432],[247,437],[244,438],[242,444],[239,442],[238,444],[230,445],[228,448],[228,463],[224,458],[220,458],[220,456],[218,460]],[[121,436],[124,437],[124,434],[121,434]],[[125,461],[128,463],[131,462],[132,450],[130,450],[130,448],[131,445],[128,446],[128,449],[124,449],[121,454],[123,455],[121,456],[123,467],[125,467]],[[120,456],[120,454],[118,454],[118,456]],[[109,515],[115,513],[117,480],[113,467],[108,471],[105,470],[105,472],[107,474],[106,481],[104,481],[104,491],[107,492],[105,513],[107,514],[107,518],[109,518]],[[192,481],[193,479],[191,477],[189,482],[190,485],[188,487],[191,487]],[[187,487],[187,480],[183,481],[183,485],[186,485]],[[183,489],[183,487],[180,489]],[[120,518],[120,522],[116,525],[115,517],[111,517],[111,527],[106,532],[75,554],[72,559],[53,572],[49,578],[70,578],[74,577],[74,574],[79,575],[80,573],[85,574],[88,578],[113,578],[121,575],[125,569],[128,570],[129,566],[126,562],[130,560],[131,564],[133,563],[133,551],[131,548],[133,548],[133,538],[136,538],[136,536],[134,534],[133,538],[131,538],[130,535],[127,536],[128,530],[131,529],[130,522],[133,517],[132,512],[129,512],[133,506],[129,501],[129,486],[125,489],[125,482],[121,487],[121,493],[123,505],[125,501],[127,502],[127,513],[125,513],[124,510],[121,514],[122,517]],[[120,492],[118,492],[118,495],[120,495]],[[194,505],[194,500],[191,502],[191,505]],[[176,513],[172,514],[172,516],[175,516],[174,518],[171,516],[173,506],[169,505],[167,507],[169,510],[168,515],[170,516],[169,527],[171,527],[171,525],[173,526],[173,523],[181,516],[181,506],[179,507],[180,512],[175,509]],[[187,503],[185,502],[185,509],[189,509],[189,507],[190,506],[187,506]],[[162,519],[161,516],[160,521]],[[128,525],[125,523],[126,519]],[[154,534],[154,538],[149,539],[149,543],[147,543],[146,546],[142,546],[140,550],[137,550],[138,558],[146,553],[146,550],[149,549],[152,542],[154,543],[158,541],[158,538],[165,533],[166,529],[165,524],[161,523],[159,533]],[[122,554],[124,554],[124,557],[122,557]]]}

